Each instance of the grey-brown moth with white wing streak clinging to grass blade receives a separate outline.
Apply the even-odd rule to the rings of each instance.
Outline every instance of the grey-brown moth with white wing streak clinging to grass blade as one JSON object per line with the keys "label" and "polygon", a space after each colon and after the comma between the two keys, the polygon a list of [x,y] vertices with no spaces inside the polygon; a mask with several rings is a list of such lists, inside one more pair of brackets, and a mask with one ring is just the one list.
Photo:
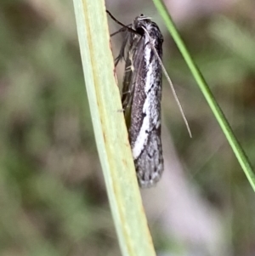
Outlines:
{"label": "grey-brown moth with white wing streak clinging to grass blade", "polygon": [[[115,65],[125,60],[122,107],[139,186],[148,188],[156,185],[164,169],[161,90],[162,71],[167,72],[161,62],[163,37],[156,23],[143,14],[125,26],[107,13],[126,33]],[[172,82],[170,85],[173,87]]]}

